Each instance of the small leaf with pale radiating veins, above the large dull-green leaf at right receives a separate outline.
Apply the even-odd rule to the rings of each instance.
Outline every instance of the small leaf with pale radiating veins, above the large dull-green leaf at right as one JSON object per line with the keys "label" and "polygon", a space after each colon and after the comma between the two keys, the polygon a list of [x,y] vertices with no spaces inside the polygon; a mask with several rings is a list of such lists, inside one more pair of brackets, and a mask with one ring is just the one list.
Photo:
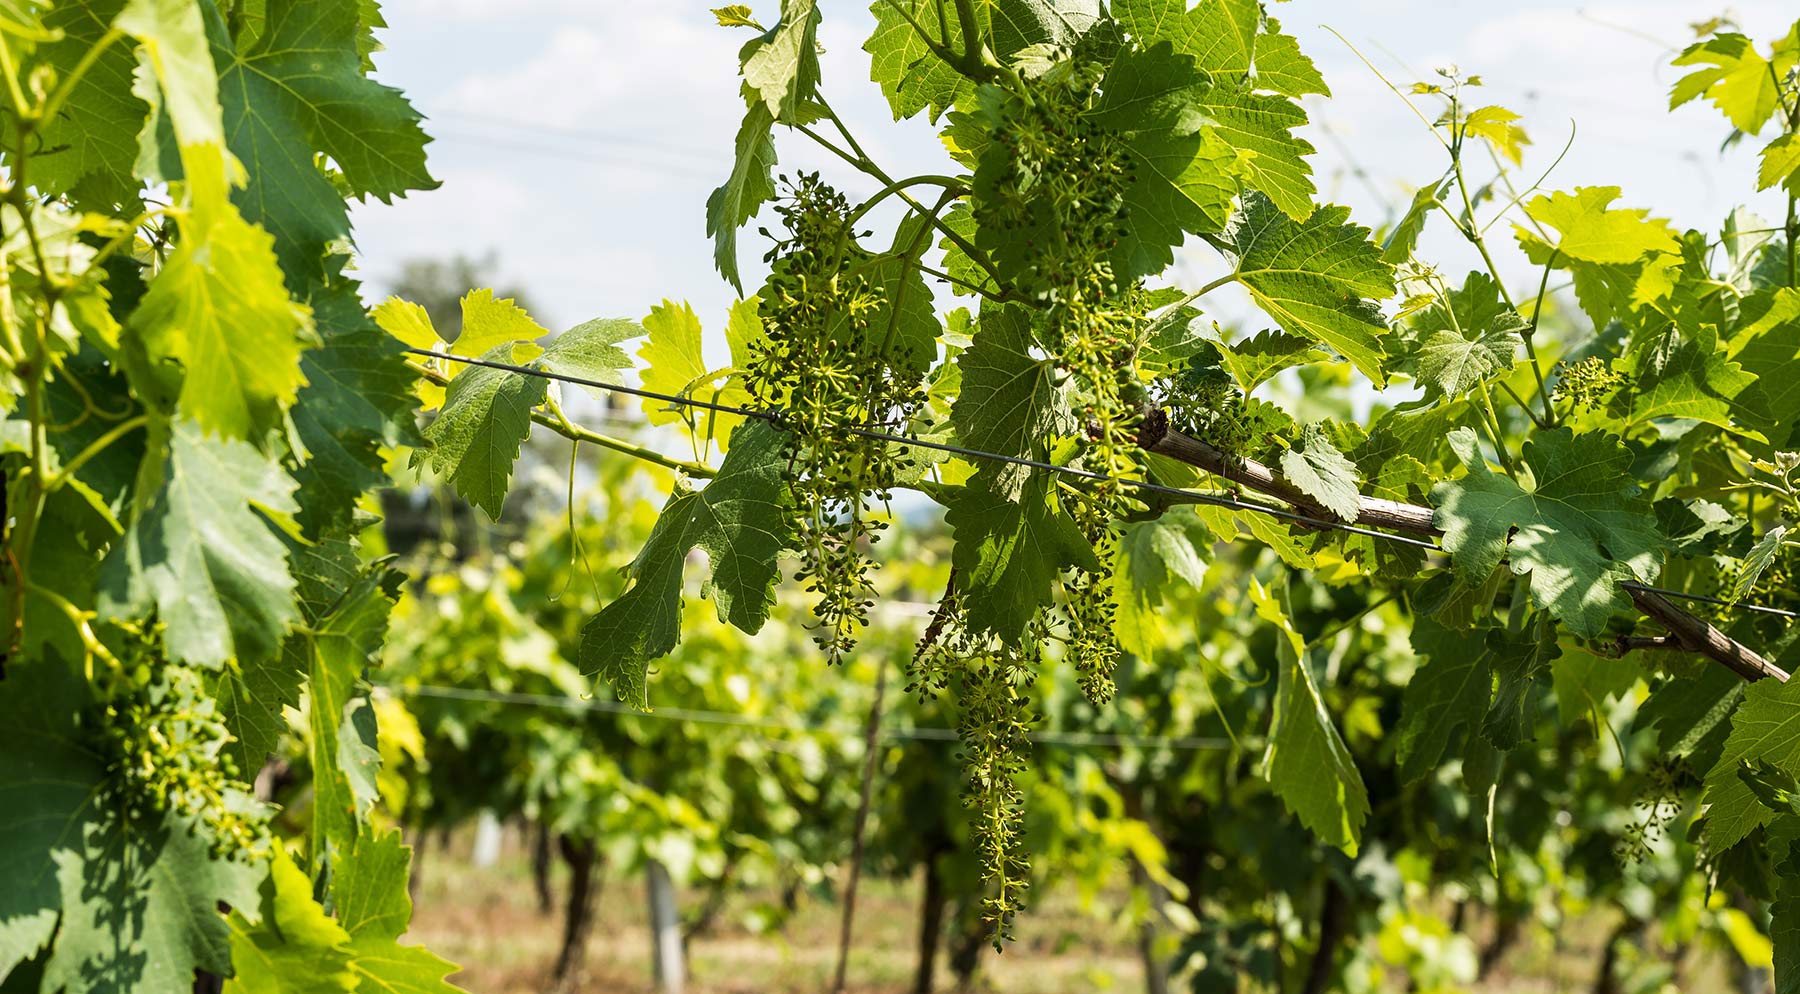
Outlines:
{"label": "small leaf with pale radiating veins, above the large dull-green leaf at right", "polygon": [[1499,285],[1483,272],[1471,272],[1460,290],[1418,312],[1413,333],[1418,346],[1418,378],[1445,396],[1462,396],[1512,369],[1528,326],[1499,295]]}

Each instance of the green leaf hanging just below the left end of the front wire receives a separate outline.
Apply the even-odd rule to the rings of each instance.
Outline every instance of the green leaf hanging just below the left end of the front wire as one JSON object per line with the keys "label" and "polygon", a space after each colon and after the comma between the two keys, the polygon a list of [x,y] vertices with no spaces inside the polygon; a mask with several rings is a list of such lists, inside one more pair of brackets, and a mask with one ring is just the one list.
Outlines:
{"label": "green leaf hanging just below the left end of the front wire", "polygon": [[[511,362],[513,346],[495,346],[481,358]],[[432,448],[414,452],[414,465],[430,459],[464,501],[499,520],[513,463],[531,434],[531,409],[544,403],[547,387],[540,376],[470,366],[450,380],[443,411],[425,427]]]}

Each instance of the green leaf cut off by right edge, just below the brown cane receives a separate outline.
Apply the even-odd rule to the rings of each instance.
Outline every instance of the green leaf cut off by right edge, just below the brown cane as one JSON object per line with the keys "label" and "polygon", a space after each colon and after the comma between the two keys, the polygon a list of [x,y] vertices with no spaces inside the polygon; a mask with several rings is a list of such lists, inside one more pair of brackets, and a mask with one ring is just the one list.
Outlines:
{"label": "green leaf cut off by right edge, just below the brown cane", "polygon": [[1800,681],[1757,681],[1744,690],[1724,751],[1706,773],[1706,845],[1714,852],[1735,846],[1773,816],[1739,776],[1744,764],[1800,769]]}

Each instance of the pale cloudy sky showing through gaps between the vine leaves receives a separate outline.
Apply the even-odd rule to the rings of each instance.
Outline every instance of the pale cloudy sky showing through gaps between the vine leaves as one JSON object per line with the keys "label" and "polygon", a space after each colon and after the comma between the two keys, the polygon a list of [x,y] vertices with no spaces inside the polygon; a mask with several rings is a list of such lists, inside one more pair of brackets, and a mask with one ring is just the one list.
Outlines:
{"label": "pale cloudy sky showing through gaps between the vine leaves", "polygon": [[[553,331],[686,299],[707,330],[707,351],[722,358],[720,330],[736,294],[713,270],[706,198],[731,167],[743,112],[736,50],[751,31],[718,27],[709,5],[716,4],[387,0],[391,27],[376,76],[427,115],[432,173],[443,185],[355,211],[371,294],[385,294],[410,258],[491,254],[495,281],[524,288]],[[776,0],[752,7],[763,23],[776,20]],[[869,155],[891,175],[954,169],[931,124],[895,122],[868,81],[860,50],[873,25],[868,5],[821,0],[821,7],[824,92]],[[1766,47],[1793,23],[1791,0],[1732,7],[1292,0],[1269,9],[1332,88],[1328,99],[1309,97],[1312,122],[1298,131],[1319,149],[1312,158],[1319,200],[1352,207],[1364,225],[1404,207],[1417,185],[1442,173],[1445,153],[1355,50],[1402,90],[1436,79],[1436,67],[1480,74],[1485,86],[1471,99],[1523,115],[1528,178],[1552,164],[1573,128],[1548,189],[1618,185],[1620,205],[1651,207],[1683,229],[1717,229],[1737,203],[1782,216],[1775,191],[1746,196],[1757,144],[1721,151],[1724,119],[1703,103],[1670,113],[1667,94],[1683,72],[1669,59],[1692,40],[1690,22],[1728,13]],[[778,133],[776,142],[783,171],[821,169],[851,198],[873,193],[868,178],[805,137]],[[740,238],[751,290],[761,276],[754,227]],[[1490,234],[1499,267],[1510,281],[1528,281],[1534,274],[1507,230],[1498,223]],[[1451,274],[1478,265],[1444,223],[1427,229],[1420,254]],[[1190,241],[1170,279],[1199,286],[1220,272],[1224,261]],[[1202,306],[1228,322],[1255,321],[1229,297]]]}

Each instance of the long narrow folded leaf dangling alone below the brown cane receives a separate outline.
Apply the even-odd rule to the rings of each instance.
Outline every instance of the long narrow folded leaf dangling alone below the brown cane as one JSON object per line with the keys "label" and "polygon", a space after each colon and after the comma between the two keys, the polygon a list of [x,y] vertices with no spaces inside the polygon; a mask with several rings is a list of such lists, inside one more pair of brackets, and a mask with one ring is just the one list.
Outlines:
{"label": "long narrow folded leaf dangling alone below the brown cane", "polygon": [[1325,709],[1325,699],[1307,668],[1307,645],[1287,619],[1276,594],[1251,580],[1256,616],[1280,630],[1274,717],[1264,776],[1319,841],[1355,855],[1368,819],[1368,789]]}

